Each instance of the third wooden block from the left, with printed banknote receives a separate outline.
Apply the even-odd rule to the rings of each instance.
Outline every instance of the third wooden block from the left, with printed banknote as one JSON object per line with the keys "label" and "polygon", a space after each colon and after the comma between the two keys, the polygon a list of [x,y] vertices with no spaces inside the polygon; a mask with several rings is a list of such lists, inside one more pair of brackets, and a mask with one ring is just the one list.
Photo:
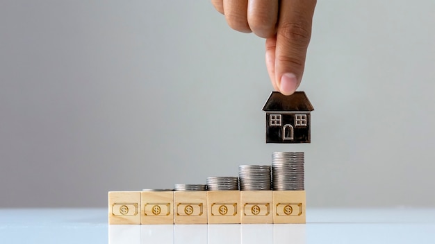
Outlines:
{"label": "third wooden block from the left, with printed banknote", "polygon": [[174,223],[206,224],[207,191],[174,191]]}

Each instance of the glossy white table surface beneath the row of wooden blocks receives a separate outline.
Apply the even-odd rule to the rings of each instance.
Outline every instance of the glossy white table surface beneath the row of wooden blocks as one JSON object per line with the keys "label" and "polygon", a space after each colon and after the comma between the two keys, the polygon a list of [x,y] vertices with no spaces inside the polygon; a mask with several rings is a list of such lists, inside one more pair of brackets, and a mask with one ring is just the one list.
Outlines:
{"label": "glossy white table surface beneath the row of wooden blocks", "polygon": [[306,213],[306,225],[108,225],[107,209],[0,209],[0,243],[435,243],[435,209]]}

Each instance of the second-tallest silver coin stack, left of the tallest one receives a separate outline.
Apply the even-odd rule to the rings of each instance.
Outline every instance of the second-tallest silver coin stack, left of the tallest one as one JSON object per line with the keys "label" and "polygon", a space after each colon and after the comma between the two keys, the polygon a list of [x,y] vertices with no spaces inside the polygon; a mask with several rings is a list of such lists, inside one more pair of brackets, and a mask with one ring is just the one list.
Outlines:
{"label": "second-tallest silver coin stack, left of the tallest one", "polygon": [[270,165],[240,165],[238,166],[240,191],[270,191],[272,182]]}

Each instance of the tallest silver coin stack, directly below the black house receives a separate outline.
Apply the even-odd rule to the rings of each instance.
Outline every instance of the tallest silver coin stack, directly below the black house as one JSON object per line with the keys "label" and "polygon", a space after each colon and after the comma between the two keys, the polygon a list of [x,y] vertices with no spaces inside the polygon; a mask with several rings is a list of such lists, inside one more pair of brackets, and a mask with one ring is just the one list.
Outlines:
{"label": "tallest silver coin stack, directly below the black house", "polygon": [[304,153],[272,153],[274,191],[304,190]]}

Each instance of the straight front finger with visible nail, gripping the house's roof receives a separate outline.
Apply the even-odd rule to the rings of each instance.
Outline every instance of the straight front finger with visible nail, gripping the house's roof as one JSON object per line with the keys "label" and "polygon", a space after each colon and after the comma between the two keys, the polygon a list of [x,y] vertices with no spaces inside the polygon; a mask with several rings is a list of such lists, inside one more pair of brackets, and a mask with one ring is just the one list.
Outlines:
{"label": "straight front finger with visible nail, gripping the house's roof", "polygon": [[293,94],[302,80],[315,3],[315,0],[283,0],[279,6],[275,81],[284,95]]}

